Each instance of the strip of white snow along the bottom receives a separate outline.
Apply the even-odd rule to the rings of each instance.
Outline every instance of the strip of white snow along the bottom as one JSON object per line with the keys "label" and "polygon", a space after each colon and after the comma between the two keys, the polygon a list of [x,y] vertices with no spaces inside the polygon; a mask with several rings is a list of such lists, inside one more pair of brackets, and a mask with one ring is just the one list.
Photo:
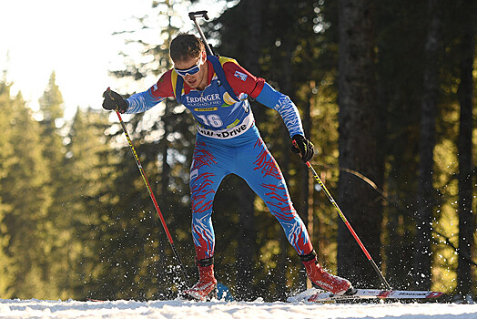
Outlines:
{"label": "strip of white snow along the bottom", "polygon": [[310,304],[214,301],[79,302],[0,299],[0,318],[475,319],[477,304]]}

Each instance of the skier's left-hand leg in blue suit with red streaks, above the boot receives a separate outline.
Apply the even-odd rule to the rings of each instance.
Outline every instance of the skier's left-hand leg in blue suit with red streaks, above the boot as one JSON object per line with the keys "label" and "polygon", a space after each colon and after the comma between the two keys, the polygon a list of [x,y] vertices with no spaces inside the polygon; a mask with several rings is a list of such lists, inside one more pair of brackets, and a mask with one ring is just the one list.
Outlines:
{"label": "skier's left-hand leg in blue suit with red streaks, above the boot", "polygon": [[197,140],[190,168],[190,202],[192,238],[198,261],[214,255],[215,234],[212,226],[212,204],[220,181],[228,174],[218,160],[220,151],[206,141]]}

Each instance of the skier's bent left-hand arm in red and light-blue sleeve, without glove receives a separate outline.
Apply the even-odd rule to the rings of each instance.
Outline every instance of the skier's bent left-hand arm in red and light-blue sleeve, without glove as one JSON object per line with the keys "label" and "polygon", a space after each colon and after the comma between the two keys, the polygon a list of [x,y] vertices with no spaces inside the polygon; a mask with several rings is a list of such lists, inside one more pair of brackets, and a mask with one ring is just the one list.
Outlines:
{"label": "skier's bent left-hand arm in red and light-blue sleeve, without glove", "polygon": [[145,112],[147,109],[155,107],[165,98],[173,97],[172,84],[170,82],[170,73],[167,71],[159,78],[157,83],[149,87],[146,91],[133,94],[127,101],[127,114]]}

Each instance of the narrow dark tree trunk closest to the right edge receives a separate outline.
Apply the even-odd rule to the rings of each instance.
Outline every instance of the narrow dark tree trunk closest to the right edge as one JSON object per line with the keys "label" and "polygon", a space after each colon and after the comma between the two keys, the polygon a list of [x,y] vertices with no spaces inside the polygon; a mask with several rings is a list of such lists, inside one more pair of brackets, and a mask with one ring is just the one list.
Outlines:
{"label": "narrow dark tree trunk closest to the right edge", "polygon": [[475,52],[473,19],[475,1],[462,7],[462,60],[459,99],[461,119],[459,131],[459,265],[457,267],[457,291],[462,296],[472,293],[472,246],[475,232],[472,215],[472,66]]}

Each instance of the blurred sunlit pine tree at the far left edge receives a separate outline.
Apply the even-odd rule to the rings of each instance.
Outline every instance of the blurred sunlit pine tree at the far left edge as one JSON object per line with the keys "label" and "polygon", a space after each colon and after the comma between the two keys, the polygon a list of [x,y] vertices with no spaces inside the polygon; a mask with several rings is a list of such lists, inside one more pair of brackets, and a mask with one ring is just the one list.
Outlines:
{"label": "blurred sunlit pine tree at the far left edge", "polygon": [[5,84],[2,94],[2,109],[9,114],[7,142],[11,145],[0,195],[8,205],[3,216],[3,241],[11,279],[3,284],[3,289],[7,297],[43,297],[53,288],[48,284],[50,278],[44,262],[48,243],[42,241],[52,198],[45,174],[48,166],[43,158],[41,130],[21,94],[6,98],[9,89]]}

